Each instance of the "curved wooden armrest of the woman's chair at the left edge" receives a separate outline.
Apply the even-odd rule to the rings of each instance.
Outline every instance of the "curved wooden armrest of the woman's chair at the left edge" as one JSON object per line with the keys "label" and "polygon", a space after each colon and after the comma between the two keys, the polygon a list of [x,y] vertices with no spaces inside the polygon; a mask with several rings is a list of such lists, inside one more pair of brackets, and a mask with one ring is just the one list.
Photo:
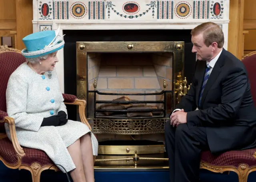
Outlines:
{"label": "curved wooden armrest of the woman's chair at the left edge", "polygon": [[[6,112],[1,111],[1,110],[0,110],[0,117],[3,117],[2,120],[0,120],[0,122],[7,123],[8,126],[9,126],[10,134],[11,134],[11,138],[12,138],[12,145],[13,145],[13,148],[14,148],[16,154],[17,154],[18,163],[21,164],[21,158],[22,158],[22,156],[25,155],[25,152],[24,152],[23,148],[20,146],[20,144],[18,142],[18,138],[17,138],[17,135],[16,135],[14,118],[10,118]],[[17,168],[17,164],[15,165],[15,168]]]}

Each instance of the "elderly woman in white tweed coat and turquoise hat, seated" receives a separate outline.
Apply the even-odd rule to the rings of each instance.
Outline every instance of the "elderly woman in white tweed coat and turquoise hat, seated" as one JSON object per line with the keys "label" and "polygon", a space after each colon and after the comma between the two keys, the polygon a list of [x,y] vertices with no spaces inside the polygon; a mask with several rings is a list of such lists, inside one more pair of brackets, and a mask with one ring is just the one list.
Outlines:
{"label": "elderly woman in white tweed coat and turquoise hat, seated", "polygon": [[15,119],[21,146],[46,152],[70,172],[74,182],[94,182],[93,155],[98,153],[98,142],[86,124],[68,120],[54,70],[56,53],[64,47],[64,40],[57,37],[58,31],[51,30],[23,38],[27,62],[10,76],[7,112]]}

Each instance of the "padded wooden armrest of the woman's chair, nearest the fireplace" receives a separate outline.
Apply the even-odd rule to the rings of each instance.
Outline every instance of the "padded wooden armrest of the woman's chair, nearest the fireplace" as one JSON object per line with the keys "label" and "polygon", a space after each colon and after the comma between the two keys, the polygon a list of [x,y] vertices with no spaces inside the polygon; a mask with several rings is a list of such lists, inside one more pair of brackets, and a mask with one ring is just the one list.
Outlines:
{"label": "padded wooden armrest of the woman's chair, nearest the fireplace", "polygon": [[[62,94],[62,95],[64,98],[64,104],[78,105],[78,112],[79,112],[79,117],[80,117],[81,122],[86,124],[88,126],[88,128],[90,130],[92,130],[92,127],[90,126],[90,124],[85,116],[86,101],[80,100],[74,95],[70,95],[70,94]],[[73,101],[73,102],[71,102],[71,101]]]}

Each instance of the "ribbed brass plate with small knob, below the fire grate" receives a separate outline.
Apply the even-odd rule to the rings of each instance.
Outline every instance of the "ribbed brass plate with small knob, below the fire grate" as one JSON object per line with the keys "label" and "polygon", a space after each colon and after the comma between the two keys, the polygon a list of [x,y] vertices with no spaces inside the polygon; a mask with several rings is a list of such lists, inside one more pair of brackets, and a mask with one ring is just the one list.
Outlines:
{"label": "ribbed brass plate with small knob, below the fire grate", "polygon": [[110,154],[110,155],[129,155],[134,154],[163,154],[164,145],[134,145],[134,146],[118,146],[118,145],[99,145],[98,154]]}

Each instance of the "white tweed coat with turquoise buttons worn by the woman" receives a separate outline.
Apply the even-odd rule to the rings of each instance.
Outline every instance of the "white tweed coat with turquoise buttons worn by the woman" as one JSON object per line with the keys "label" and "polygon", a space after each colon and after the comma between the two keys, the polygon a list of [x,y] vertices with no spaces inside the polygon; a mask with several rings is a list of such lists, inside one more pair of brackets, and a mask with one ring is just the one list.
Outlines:
{"label": "white tweed coat with turquoise buttons worn by the woman", "polygon": [[[21,64],[10,76],[6,90],[7,113],[14,118],[18,142],[21,146],[43,150],[55,164],[67,172],[76,168],[67,147],[90,132],[88,126],[68,120],[63,126],[43,126],[43,118],[67,113],[59,89],[55,70],[44,76],[34,72],[27,62]],[[10,130],[5,124],[8,138]],[[93,154],[98,155],[98,141],[90,132]],[[64,170],[60,167],[60,170]]]}

